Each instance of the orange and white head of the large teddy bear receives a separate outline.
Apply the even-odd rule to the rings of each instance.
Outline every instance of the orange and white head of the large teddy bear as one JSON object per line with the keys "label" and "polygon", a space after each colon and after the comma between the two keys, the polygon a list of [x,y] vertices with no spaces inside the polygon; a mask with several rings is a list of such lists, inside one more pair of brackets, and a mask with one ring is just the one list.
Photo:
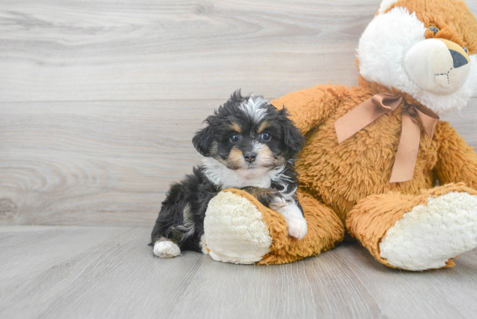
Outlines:
{"label": "orange and white head of the large teddy bear", "polygon": [[383,0],[358,48],[360,74],[436,113],[477,87],[477,20],[463,1]]}

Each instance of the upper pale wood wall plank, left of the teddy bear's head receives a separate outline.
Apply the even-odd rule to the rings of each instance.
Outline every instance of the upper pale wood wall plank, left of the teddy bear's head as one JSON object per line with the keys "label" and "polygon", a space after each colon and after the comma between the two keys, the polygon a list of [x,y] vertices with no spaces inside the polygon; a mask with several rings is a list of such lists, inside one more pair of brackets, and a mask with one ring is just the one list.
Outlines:
{"label": "upper pale wood wall plank, left of the teddy bear's head", "polygon": [[267,96],[356,83],[379,0],[1,0],[0,101]]}

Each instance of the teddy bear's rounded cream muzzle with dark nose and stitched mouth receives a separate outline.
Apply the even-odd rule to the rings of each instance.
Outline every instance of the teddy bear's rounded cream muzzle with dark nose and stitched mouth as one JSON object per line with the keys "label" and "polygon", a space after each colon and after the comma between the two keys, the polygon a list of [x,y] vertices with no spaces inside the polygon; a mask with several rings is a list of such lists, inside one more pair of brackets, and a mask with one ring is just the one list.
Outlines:
{"label": "teddy bear's rounded cream muzzle with dark nose and stitched mouth", "polygon": [[404,56],[404,68],[427,92],[447,95],[459,90],[470,71],[470,58],[457,43],[440,38],[418,42]]}

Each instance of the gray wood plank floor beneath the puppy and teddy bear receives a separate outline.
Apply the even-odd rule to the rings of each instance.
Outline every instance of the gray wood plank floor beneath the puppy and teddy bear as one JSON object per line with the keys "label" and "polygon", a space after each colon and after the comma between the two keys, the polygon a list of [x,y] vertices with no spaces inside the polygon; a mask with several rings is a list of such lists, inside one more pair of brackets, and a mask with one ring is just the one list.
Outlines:
{"label": "gray wood plank floor beneath the puppy and teddy bear", "polygon": [[184,252],[147,227],[0,226],[0,318],[475,318],[477,250],[413,273],[356,244],[286,265]]}

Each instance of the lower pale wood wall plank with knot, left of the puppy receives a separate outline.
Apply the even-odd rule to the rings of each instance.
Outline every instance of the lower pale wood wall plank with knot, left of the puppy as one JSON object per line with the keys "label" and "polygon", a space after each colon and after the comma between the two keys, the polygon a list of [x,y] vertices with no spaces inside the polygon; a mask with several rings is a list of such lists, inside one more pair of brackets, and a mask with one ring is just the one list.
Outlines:
{"label": "lower pale wood wall plank with knot, left of the puppy", "polygon": [[169,184],[200,162],[191,136],[218,105],[218,101],[4,104],[0,220],[152,225]]}

